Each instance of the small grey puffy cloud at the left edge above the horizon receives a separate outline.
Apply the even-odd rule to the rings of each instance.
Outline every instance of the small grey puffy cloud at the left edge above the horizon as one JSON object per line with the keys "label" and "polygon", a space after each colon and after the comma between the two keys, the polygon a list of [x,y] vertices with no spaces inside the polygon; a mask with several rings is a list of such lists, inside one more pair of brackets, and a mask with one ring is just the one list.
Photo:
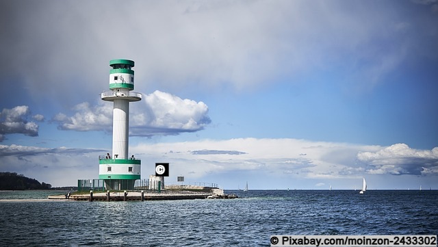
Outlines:
{"label": "small grey puffy cloud at the left edge above the horizon", "polygon": [[[5,135],[21,133],[29,136],[38,136],[38,125],[27,120],[30,117],[30,110],[27,105],[16,106],[12,109],[3,108],[0,112],[0,142]],[[35,120],[43,120],[44,116],[37,114]]]}

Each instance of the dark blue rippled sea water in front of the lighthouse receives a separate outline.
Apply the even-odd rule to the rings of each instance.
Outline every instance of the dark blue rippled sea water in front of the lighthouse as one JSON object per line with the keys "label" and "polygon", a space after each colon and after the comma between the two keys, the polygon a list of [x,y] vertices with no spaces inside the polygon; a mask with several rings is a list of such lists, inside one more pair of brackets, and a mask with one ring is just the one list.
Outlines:
{"label": "dark blue rippled sea water in front of the lighthouse", "polygon": [[436,190],[225,192],[240,198],[1,200],[0,246],[270,246],[270,235],[438,234]]}

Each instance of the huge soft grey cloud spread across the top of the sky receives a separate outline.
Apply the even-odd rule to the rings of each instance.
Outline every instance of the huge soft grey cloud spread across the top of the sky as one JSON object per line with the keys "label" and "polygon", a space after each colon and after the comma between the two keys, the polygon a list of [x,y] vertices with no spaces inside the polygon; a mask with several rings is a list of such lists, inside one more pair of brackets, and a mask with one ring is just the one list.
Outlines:
{"label": "huge soft grey cloud spread across the top of the sky", "polygon": [[[103,85],[90,81],[107,78],[108,61],[123,57],[136,61],[136,81],[145,82],[136,88],[144,92],[146,86],[246,90],[332,65],[345,67],[342,79],[348,83],[368,85],[382,82],[411,55],[437,54],[437,44],[424,46],[417,38],[435,38],[430,31],[435,26],[400,32],[394,20],[411,27],[422,23],[406,18],[410,12],[397,11],[402,5],[392,1],[110,3],[93,1],[87,8],[64,1],[5,3],[0,47],[8,61],[0,66],[5,81],[22,83],[34,99],[77,103],[101,92]],[[115,12],[130,14],[120,22]],[[108,38],[120,36],[117,30],[130,42]],[[79,88],[80,93],[59,93]]]}

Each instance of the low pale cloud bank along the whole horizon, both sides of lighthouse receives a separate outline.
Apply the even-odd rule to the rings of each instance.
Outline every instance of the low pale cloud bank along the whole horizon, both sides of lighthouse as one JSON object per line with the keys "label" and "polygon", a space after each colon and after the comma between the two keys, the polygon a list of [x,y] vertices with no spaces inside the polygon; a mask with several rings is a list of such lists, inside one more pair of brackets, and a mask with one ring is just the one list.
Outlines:
{"label": "low pale cloud bank along the whole horizon, both sides of lighthouse", "polygon": [[[204,149],[206,152],[202,155],[196,152]],[[99,162],[96,161],[96,157],[106,152],[93,148],[0,145],[0,170],[29,174],[29,177],[35,177],[54,186],[75,185],[77,179],[98,177]],[[340,185],[336,181],[357,181],[359,186],[361,177],[370,178],[367,181],[376,186],[377,182],[373,181],[373,176],[380,177],[378,181],[391,181],[391,177],[403,180],[409,174],[430,178],[428,181],[435,182],[429,182],[429,186],[435,186],[438,175],[437,159],[433,161],[438,148],[432,151],[413,151],[405,144],[384,148],[296,139],[238,138],[143,143],[131,146],[130,152],[142,160],[143,179],[149,177],[149,174],[154,174],[153,164],[168,162],[171,164],[168,181],[182,175],[186,181],[222,183],[229,187],[237,187],[238,181],[235,179],[246,178],[250,178],[253,187],[259,188],[273,188],[275,184],[290,186],[291,183],[298,187],[300,184],[297,183],[308,187],[321,187],[329,183],[336,187],[351,186],[348,182],[342,182],[343,185]],[[307,155],[300,155],[302,153]],[[346,153],[344,156],[352,158],[328,159],[341,153]],[[377,159],[397,158],[399,161],[407,161],[418,157],[423,157],[423,161],[428,160],[430,164],[435,162],[435,165],[428,166],[425,165],[426,162],[417,162],[422,172],[415,173],[416,170],[411,167],[411,163],[375,163]],[[398,174],[400,176],[393,176]],[[399,183],[403,184],[402,181]]]}

